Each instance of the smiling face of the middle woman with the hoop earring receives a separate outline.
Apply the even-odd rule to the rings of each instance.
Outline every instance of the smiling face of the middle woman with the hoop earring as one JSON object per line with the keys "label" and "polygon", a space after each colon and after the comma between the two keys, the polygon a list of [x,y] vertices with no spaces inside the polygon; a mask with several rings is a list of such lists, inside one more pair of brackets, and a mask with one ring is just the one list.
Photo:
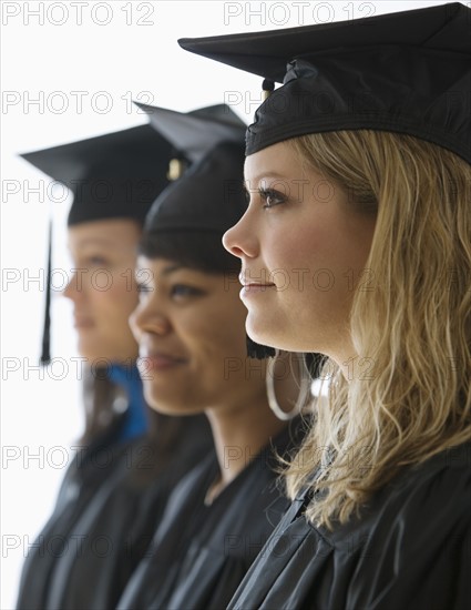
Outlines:
{"label": "smiling face of the middle woman with the hoop earring", "polygon": [[190,414],[250,405],[265,395],[259,362],[246,357],[246,311],[237,277],[166,258],[139,258],[140,304],[131,327],[147,403]]}

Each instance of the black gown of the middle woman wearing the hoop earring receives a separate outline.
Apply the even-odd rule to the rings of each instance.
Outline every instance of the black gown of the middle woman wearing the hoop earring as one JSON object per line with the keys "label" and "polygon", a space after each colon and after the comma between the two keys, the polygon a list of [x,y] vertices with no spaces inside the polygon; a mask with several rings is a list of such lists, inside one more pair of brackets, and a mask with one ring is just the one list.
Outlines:
{"label": "black gown of the middle woman wearing the hoop earring", "polygon": [[289,504],[273,449],[293,448],[299,428],[296,421],[273,439],[211,505],[205,496],[219,474],[216,458],[190,472],[117,608],[224,609]]}

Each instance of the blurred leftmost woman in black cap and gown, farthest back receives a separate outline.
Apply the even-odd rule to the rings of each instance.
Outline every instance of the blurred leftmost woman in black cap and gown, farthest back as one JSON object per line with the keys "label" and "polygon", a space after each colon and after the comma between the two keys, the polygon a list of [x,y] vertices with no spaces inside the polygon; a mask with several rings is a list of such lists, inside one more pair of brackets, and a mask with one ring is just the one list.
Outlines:
{"label": "blurred leftmost woman in black cap and gown, farthest back", "polygon": [[209,450],[203,419],[171,419],[146,406],[127,324],[142,223],[167,185],[170,153],[143,125],[23,155],[74,194],[75,274],[65,296],[86,374],[81,449],[24,565],[21,610],[114,608],[170,489]]}

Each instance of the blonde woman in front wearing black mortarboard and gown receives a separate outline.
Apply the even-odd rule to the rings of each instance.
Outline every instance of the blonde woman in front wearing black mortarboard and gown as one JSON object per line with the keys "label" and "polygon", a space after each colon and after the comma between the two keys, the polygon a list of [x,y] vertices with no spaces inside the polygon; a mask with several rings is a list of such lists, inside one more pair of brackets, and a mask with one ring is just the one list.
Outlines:
{"label": "blonde woman in front wearing black mortarboard and gown", "polygon": [[470,13],[183,41],[285,83],[224,243],[250,336],[328,356],[293,506],[229,608],[469,607]]}

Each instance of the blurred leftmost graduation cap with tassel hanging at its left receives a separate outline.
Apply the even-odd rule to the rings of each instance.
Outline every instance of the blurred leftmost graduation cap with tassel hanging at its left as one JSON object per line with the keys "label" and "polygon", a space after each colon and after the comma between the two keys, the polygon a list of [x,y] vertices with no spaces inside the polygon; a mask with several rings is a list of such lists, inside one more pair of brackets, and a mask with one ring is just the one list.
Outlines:
{"label": "blurred leftmost graduation cap with tassel hanging at its left", "polygon": [[[144,223],[152,202],[168,184],[171,144],[150,125],[21,154],[44,174],[68,186],[73,202],[68,225],[132,218]],[[41,363],[50,356],[51,225],[48,289]]]}

